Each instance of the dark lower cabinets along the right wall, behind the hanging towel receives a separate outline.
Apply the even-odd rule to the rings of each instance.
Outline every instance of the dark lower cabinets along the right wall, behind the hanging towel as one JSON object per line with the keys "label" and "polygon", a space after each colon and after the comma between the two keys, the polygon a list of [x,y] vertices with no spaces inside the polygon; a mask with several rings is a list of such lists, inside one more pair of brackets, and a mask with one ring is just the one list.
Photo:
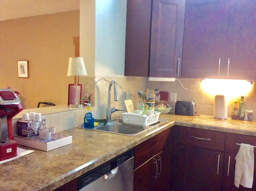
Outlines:
{"label": "dark lower cabinets along the right wall, behind the hanging towel", "polygon": [[[247,143],[256,146],[255,136],[190,127],[177,128],[178,139],[173,153],[172,191],[256,190],[255,148],[252,189],[242,185],[237,188],[234,185],[235,157],[240,148],[238,144]],[[195,137],[196,139],[194,139]],[[192,141],[193,139],[194,141]]]}

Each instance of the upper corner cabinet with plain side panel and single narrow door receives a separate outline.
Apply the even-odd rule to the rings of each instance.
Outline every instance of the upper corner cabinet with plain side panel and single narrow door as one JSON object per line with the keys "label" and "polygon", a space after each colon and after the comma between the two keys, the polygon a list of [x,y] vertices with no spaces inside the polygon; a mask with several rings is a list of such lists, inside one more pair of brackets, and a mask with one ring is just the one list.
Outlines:
{"label": "upper corner cabinet with plain side panel and single narrow door", "polygon": [[127,0],[125,76],[180,77],[184,12],[185,0]]}

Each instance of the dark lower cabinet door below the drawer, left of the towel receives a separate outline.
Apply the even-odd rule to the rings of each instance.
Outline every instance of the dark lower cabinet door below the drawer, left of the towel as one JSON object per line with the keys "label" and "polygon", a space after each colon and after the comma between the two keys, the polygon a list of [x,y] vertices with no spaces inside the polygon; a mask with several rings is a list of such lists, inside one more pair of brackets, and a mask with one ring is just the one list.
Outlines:
{"label": "dark lower cabinet door below the drawer, left of the towel", "polygon": [[224,152],[179,145],[177,158],[174,190],[222,189]]}

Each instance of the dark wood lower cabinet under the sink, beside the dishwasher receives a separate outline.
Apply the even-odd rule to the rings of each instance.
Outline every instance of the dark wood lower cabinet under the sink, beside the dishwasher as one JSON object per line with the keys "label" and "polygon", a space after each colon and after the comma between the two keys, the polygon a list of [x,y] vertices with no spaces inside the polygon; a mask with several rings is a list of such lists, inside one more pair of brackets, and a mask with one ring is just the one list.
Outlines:
{"label": "dark wood lower cabinet under the sink, beside the dishwasher", "polygon": [[134,191],[170,191],[172,128],[134,147]]}

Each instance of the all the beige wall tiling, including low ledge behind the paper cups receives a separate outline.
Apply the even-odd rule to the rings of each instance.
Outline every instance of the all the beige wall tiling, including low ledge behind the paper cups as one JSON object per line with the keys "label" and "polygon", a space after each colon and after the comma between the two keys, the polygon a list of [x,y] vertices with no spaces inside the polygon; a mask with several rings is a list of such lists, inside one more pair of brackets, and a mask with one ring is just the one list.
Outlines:
{"label": "all the beige wall tiling, including low ledge behind the paper cups", "polygon": [[[144,91],[146,88],[160,91],[166,91],[170,93],[176,93],[176,100],[181,101],[194,101],[195,109],[198,115],[213,116],[214,96],[204,92],[201,87],[201,82],[198,79],[180,79],[175,82],[154,82],[148,81],[145,77],[85,77],[80,78],[80,84],[82,84],[82,95],[86,93],[92,94],[90,103],[95,113],[95,119],[106,119],[106,108],[108,105],[108,87],[109,82],[114,80],[117,85],[118,101],[114,101],[114,88],[111,88],[111,108],[121,109],[123,111],[116,111],[112,113],[112,118],[120,116],[122,112],[125,112],[124,100],[132,99],[134,107],[136,109],[137,103],[141,102],[137,92],[139,90]],[[256,83],[253,82],[252,90],[245,97],[246,108],[254,110],[253,120],[256,121]],[[232,97],[228,100],[228,117],[231,117],[231,111],[234,100],[240,101],[240,96]],[[174,112],[175,102],[168,100],[172,106],[171,112]],[[64,111],[50,112],[50,114],[42,115],[43,119],[46,119],[47,127],[56,127],[56,132],[65,129],[77,127],[83,123],[85,109],[67,110],[67,105],[54,106],[49,108],[64,108]],[[40,108],[36,108],[40,109]],[[30,109],[34,111],[34,109]],[[27,112],[30,112],[27,110]],[[57,109],[58,110],[58,109]],[[22,111],[25,112],[25,111]],[[21,114],[18,114],[21,115]],[[16,125],[18,118],[13,119],[13,134],[16,133]]]}

